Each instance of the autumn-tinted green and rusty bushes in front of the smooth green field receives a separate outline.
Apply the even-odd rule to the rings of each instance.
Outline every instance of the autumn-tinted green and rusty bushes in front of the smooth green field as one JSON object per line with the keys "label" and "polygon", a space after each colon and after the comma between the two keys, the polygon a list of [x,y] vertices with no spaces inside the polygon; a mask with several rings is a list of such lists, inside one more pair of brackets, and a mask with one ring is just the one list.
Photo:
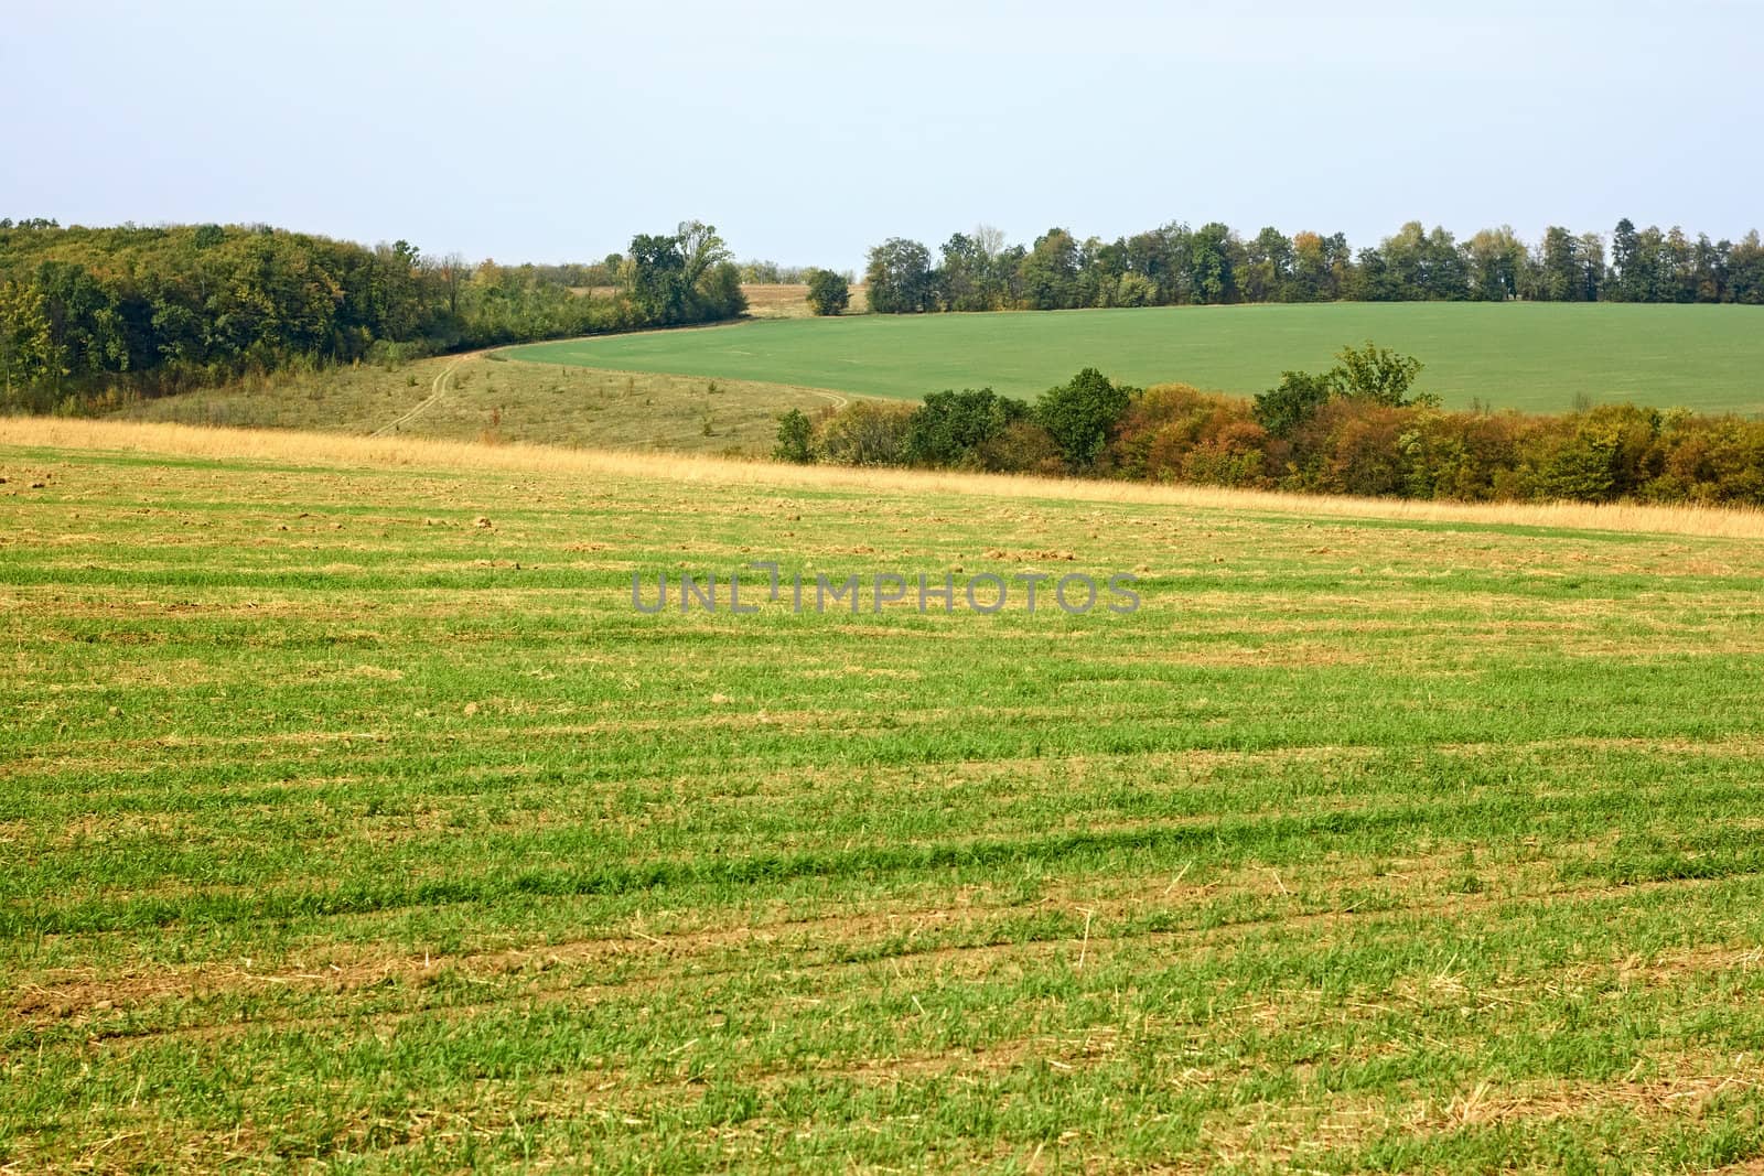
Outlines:
{"label": "autumn-tinted green and rusty bushes in front of the smooth green field", "polygon": [[1632,404],[1448,413],[1416,390],[1420,372],[1371,342],[1254,398],[1085,368],[1034,402],[979,388],[792,411],[774,457],[1468,502],[1764,506],[1764,420]]}

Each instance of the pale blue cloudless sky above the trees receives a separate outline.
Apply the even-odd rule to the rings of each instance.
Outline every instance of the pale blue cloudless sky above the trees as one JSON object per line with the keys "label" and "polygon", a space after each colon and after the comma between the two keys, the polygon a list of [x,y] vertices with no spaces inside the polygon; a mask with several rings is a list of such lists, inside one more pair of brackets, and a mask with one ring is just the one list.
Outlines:
{"label": "pale blue cloudless sky above the trees", "polygon": [[699,217],[840,268],[981,220],[1738,236],[1764,227],[1760,62],[1753,0],[11,0],[0,215],[497,261]]}

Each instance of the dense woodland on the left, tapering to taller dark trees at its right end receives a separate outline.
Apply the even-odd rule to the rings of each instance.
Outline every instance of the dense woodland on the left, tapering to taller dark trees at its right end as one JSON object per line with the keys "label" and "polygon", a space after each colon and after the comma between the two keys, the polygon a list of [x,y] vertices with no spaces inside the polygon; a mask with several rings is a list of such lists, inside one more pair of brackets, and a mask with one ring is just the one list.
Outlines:
{"label": "dense woodland on the left, tapering to taller dark trees at its right end", "polygon": [[268,226],[0,220],[0,407],[161,395],[302,363],[707,323],[746,310],[716,229],[600,263],[503,266]]}

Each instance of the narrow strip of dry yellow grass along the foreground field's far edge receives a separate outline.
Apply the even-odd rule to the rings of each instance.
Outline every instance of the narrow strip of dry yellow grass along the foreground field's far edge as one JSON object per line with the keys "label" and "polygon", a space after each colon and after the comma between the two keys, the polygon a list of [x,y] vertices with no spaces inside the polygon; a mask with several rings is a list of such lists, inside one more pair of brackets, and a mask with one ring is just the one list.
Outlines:
{"label": "narrow strip of dry yellow grass along the foreground field's far edge", "polygon": [[1351,499],[1221,487],[1162,487],[910,469],[781,465],[759,460],[617,450],[564,450],[529,444],[471,444],[416,437],[208,428],[115,420],[0,418],[0,444],[60,450],[131,450],[183,457],[335,462],[340,465],[427,465],[575,474],[624,474],[729,487],[868,488],[891,492],[1034,497],[1069,502],[1145,502],[1288,515],[1422,522],[1512,524],[1588,531],[1641,531],[1764,540],[1764,511],[1632,502],[1411,502]]}

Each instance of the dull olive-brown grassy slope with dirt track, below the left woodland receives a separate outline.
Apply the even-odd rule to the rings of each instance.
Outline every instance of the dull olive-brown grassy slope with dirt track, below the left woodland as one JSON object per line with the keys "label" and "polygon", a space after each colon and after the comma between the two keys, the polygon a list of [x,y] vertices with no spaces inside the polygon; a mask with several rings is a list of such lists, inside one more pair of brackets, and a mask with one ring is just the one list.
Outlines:
{"label": "dull olive-brown grassy slope with dirt track, below the left woodland", "polygon": [[787,384],[653,372],[603,372],[496,356],[340,367],[256,377],[145,400],[123,420],[395,432],[437,441],[515,441],[676,453],[769,453],[778,414],[843,397]]}

